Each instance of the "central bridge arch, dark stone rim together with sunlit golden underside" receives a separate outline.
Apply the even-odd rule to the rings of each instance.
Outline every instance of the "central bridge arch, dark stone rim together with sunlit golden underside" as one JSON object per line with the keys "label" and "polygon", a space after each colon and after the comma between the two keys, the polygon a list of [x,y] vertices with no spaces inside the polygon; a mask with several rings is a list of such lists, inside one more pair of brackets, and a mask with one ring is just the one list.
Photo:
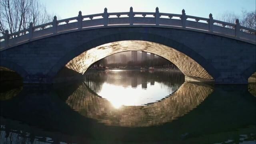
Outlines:
{"label": "central bridge arch, dark stone rim together with sunlit golden underside", "polygon": [[[106,50],[107,48],[112,49]],[[162,56],[178,66],[185,76],[213,80],[220,75],[210,62],[188,46],[160,35],[140,32],[112,34],[85,42],[58,60],[47,75],[54,78],[64,66],[83,74],[94,62],[111,54],[130,50]]]}

